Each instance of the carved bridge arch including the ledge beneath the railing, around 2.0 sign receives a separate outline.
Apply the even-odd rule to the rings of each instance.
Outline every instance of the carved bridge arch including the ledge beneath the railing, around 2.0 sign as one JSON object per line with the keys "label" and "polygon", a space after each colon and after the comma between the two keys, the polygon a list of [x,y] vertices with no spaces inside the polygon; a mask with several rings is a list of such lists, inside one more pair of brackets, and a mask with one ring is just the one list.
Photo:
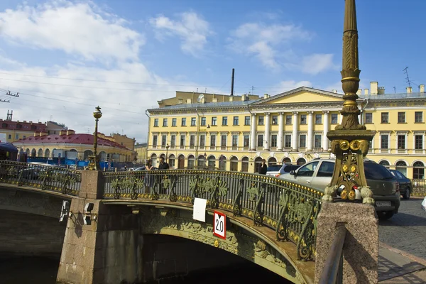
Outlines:
{"label": "carved bridge arch including the ledge beneath the railing, around 2.0 sign", "polygon": [[[103,203],[118,205],[124,202],[114,200]],[[210,211],[204,223],[192,219],[192,208],[184,206],[167,208],[162,204],[163,208],[157,208],[150,204],[141,206],[140,202],[129,205],[129,201],[126,204],[133,208],[133,214],[138,214],[138,231],[141,235],[177,236],[207,244],[245,258],[293,283],[310,283],[308,279],[310,276],[313,278],[313,262],[297,261],[290,256],[296,255],[294,244],[275,241],[271,229],[250,226],[250,220],[244,217],[227,216],[226,239],[219,239],[213,235],[213,213]],[[312,275],[303,275],[301,271],[312,271]]]}

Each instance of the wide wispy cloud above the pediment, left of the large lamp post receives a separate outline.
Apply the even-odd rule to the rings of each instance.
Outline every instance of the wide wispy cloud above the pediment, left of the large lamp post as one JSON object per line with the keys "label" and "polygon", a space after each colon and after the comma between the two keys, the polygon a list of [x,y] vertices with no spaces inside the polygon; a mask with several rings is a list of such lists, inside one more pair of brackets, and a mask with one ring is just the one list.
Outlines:
{"label": "wide wispy cloud above the pediment, left of the large lamp post", "polygon": [[[280,67],[278,48],[288,46],[294,40],[308,40],[310,37],[309,32],[295,25],[244,23],[231,32],[229,46],[237,53],[255,55],[265,67],[275,69]],[[280,50],[280,54],[288,51]]]}

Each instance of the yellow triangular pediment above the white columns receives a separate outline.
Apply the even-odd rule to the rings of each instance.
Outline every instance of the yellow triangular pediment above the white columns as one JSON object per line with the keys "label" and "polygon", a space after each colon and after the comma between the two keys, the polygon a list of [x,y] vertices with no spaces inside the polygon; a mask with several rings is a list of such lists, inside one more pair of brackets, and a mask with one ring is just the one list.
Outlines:
{"label": "yellow triangular pediment above the white columns", "polygon": [[298,103],[317,103],[317,102],[343,102],[342,94],[326,92],[319,89],[300,87],[289,92],[276,94],[273,97],[262,99],[256,102],[256,105],[264,104],[298,104]]}

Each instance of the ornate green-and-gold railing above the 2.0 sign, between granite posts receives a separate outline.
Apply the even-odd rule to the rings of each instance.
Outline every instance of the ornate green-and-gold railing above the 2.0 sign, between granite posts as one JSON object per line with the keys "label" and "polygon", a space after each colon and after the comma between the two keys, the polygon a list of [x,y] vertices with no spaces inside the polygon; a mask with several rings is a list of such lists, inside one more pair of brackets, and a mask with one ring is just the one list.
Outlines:
{"label": "ornate green-and-gold railing above the 2.0 sign, between granite posts", "polygon": [[279,241],[293,241],[297,257],[315,258],[317,215],[322,192],[266,175],[220,170],[153,170],[104,173],[104,198],[167,200],[224,209],[275,230]]}

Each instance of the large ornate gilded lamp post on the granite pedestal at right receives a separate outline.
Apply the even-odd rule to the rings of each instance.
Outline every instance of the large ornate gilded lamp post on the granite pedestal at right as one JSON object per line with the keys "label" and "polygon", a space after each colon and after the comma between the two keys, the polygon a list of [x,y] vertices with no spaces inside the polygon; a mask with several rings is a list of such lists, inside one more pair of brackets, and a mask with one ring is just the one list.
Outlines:
{"label": "large ornate gilded lamp post on the granite pedestal at right", "polygon": [[326,187],[322,199],[333,201],[337,189],[344,187],[341,192],[343,200],[355,200],[355,189],[358,189],[361,191],[363,203],[374,204],[373,192],[367,186],[363,162],[374,131],[368,131],[366,126],[359,124],[358,115],[361,111],[356,104],[361,70],[358,69],[355,0],[345,0],[342,57],[343,119],[342,124],[327,133],[327,137],[332,141],[331,151],[336,155],[336,163],[332,182]]}

